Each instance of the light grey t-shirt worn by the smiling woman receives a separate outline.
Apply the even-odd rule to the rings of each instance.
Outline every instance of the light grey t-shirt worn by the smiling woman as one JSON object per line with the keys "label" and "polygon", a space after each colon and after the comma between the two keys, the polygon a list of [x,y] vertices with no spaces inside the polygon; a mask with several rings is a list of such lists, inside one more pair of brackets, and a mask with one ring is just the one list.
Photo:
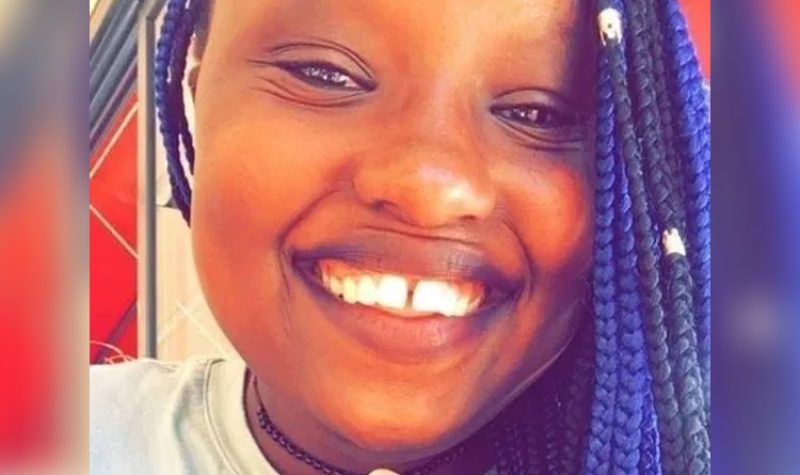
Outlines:
{"label": "light grey t-shirt worn by the smiling woman", "polygon": [[247,425],[244,378],[241,360],[93,366],[91,474],[280,475]]}

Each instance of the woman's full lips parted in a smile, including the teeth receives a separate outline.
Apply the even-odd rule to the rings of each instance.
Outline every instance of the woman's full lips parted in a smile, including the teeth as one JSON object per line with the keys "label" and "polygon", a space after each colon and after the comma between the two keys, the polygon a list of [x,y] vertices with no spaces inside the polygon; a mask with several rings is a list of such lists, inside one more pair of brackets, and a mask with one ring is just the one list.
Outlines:
{"label": "woman's full lips parted in a smile, including the teeth", "polygon": [[331,324],[412,359],[478,343],[521,287],[472,245],[392,233],[297,250],[291,260]]}

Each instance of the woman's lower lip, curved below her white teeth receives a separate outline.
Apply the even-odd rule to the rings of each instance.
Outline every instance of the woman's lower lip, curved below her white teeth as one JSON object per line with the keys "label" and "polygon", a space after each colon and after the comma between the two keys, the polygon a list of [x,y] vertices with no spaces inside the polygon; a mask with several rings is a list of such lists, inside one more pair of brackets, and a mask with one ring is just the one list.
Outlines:
{"label": "woman's lower lip, curved below her white teeth", "polygon": [[475,348],[492,323],[509,311],[512,300],[487,305],[466,317],[404,318],[376,307],[349,304],[330,294],[312,272],[295,270],[334,327],[382,357],[402,362]]}

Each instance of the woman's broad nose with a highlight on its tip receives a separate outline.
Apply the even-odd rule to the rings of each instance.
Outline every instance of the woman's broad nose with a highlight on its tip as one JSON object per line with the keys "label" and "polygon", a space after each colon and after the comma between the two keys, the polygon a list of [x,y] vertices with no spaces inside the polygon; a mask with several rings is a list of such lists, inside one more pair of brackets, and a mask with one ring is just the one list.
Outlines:
{"label": "woman's broad nose with a highlight on its tip", "polygon": [[358,198],[407,224],[436,228],[486,218],[496,191],[476,147],[444,140],[398,139],[361,161]]}

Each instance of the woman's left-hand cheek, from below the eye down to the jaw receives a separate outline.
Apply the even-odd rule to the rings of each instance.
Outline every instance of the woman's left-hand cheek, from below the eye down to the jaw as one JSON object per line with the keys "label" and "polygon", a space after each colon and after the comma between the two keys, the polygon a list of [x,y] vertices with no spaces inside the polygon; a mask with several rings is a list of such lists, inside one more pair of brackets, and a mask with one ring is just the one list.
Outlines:
{"label": "woman's left-hand cheek, from below the eye down to the jaw", "polygon": [[[275,360],[264,345],[296,353],[285,314],[284,237],[337,183],[346,154],[333,133],[307,120],[267,111],[253,98],[226,97],[225,88],[215,94],[198,95],[196,110],[191,232],[197,273],[237,351],[251,362]],[[288,356],[280,360],[282,367],[296,364]]]}

